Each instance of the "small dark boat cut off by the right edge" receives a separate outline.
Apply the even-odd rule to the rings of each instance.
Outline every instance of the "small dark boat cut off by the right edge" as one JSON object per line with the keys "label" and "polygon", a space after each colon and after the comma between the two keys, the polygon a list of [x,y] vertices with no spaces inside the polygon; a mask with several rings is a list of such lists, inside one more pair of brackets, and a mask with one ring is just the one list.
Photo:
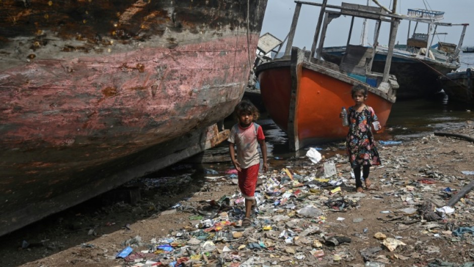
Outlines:
{"label": "small dark boat cut off by the right edge", "polygon": [[471,69],[440,76],[444,92],[449,101],[474,103],[474,76]]}

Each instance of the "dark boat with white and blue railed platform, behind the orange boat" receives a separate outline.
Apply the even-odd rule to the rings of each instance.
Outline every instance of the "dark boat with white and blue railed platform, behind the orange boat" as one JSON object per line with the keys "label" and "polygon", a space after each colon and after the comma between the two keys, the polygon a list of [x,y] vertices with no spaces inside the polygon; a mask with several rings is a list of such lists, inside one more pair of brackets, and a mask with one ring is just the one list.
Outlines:
{"label": "dark boat with white and blue railed platform, behind the orange boat", "polygon": [[[450,73],[460,67],[459,52],[466,26],[468,24],[444,23],[441,20],[444,12],[409,9],[403,20],[408,20],[406,44],[395,45],[390,73],[397,77],[400,88],[397,99],[418,98],[432,95],[441,90],[438,76]],[[415,23],[411,32],[411,22]],[[428,24],[427,32],[419,32],[423,24]],[[459,43],[438,42],[433,40],[438,34],[438,26],[463,26]],[[417,30],[418,29],[418,30]],[[411,37],[410,37],[411,32]],[[431,38],[431,40],[430,40]],[[428,51],[428,52],[427,52]],[[346,53],[345,46],[325,47],[322,51],[324,60],[339,64]],[[374,57],[373,70],[381,72],[387,58],[387,47],[378,45]]]}

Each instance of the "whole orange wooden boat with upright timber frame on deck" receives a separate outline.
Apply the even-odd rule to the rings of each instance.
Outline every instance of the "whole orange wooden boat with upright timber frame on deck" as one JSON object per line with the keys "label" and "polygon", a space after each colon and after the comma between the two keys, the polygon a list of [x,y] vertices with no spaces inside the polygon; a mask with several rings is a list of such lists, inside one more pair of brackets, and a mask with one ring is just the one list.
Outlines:
{"label": "whole orange wooden boat with upright timber frame on deck", "polygon": [[[282,58],[265,62],[256,68],[262,99],[273,121],[287,133],[290,148],[341,140],[347,135],[339,119],[341,107],[353,105],[351,88],[365,86],[369,91],[367,104],[373,106],[380,123],[384,126],[392,104],[396,100],[396,78],[389,75],[399,16],[384,14],[381,8],[342,3],[342,6],[295,1],[297,3],[290,33]],[[302,5],[321,6],[321,14],[311,51],[291,47]],[[324,15],[325,14],[325,15]],[[324,23],[323,23],[324,15]],[[348,45],[339,65],[325,62],[316,54],[319,31],[319,47],[322,48],[328,24],[340,16],[368,18],[392,25],[387,66],[383,74],[370,71],[374,49],[361,45]],[[380,28],[379,28],[380,29]],[[340,29],[338,30],[340,34]],[[350,39],[350,30],[349,38]],[[378,35],[378,33],[377,33]],[[320,49],[318,49],[320,50]]]}

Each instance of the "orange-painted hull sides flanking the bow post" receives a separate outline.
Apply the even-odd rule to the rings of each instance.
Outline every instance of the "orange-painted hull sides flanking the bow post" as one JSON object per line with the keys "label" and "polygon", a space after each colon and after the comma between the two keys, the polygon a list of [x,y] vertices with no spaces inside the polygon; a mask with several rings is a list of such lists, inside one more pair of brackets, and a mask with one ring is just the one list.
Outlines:
{"label": "orange-painted hull sides flanking the bow post", "polygon": [[[259,75],[262,98],[269,115],[287,130],[291,77],[289,68],[265,70]],[[347,127],[339,118],[342,106],[353,105],[350,95],[352,84],[309,69],[303,69],[298,88],[298,138],[301,146],[341,140],[347,136]],[[380,124],[387,123],[392,103],[370,93],[366,102],[376,111]]]}

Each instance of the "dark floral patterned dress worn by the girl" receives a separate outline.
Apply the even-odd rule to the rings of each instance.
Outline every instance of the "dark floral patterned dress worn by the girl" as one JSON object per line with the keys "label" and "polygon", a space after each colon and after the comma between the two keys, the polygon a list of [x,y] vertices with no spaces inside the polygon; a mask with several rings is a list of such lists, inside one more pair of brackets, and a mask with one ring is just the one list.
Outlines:
{"label": "dark floral patterned dress worn by the girl", "polygon": [[347,111],[349,132],[347,133],[347,152],[352,168],[363,165],[380,165],[379,152],[372,135],[372,122],[377,121],[374,109],[366,105],[362,112],[357,112],[353,106]]}

